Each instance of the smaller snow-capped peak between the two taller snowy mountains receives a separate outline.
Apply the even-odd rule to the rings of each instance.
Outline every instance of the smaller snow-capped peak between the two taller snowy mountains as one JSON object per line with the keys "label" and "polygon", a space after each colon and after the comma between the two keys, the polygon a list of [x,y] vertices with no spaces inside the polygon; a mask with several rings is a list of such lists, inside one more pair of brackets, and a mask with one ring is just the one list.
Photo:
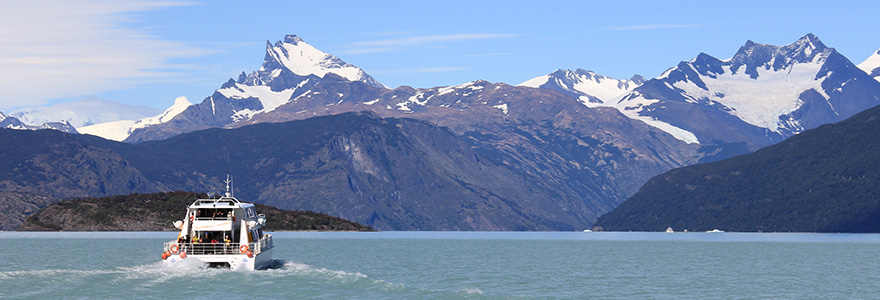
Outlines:
{"label": "smaller snow-capped peak between the two taller snowy mountains", "polygon": [[552,89],[578,98],[587,106],[609,103],[645,82],[634,75],[630,80],[613,79],[584,69],[556,70],[553,73],[529,79],[519,86]]}

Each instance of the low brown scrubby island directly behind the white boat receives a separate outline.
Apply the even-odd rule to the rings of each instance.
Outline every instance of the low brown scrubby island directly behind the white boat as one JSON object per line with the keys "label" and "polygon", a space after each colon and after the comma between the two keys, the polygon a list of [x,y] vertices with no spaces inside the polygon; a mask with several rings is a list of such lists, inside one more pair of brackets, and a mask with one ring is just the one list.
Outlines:
{"label": "low brown scrubby island directly behind the white boat", "polygon": [[[18,231],[177,231],[173,222],[204,193],[130,194],[62,201],[28,217]],[[255,204],[270,220],[267,231],[374,231],[368,226],[310,211]]]}

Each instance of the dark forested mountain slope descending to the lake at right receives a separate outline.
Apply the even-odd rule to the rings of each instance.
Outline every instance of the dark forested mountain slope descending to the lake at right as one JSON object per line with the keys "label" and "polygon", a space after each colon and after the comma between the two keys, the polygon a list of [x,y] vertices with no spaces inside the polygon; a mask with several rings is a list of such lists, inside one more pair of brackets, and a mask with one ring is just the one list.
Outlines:
{"label": "dark forested mountain slope descending to the lake at right", "polygon": [[615,231],[880,232],[880,107],[754,153],[658,175],[596,226]]}

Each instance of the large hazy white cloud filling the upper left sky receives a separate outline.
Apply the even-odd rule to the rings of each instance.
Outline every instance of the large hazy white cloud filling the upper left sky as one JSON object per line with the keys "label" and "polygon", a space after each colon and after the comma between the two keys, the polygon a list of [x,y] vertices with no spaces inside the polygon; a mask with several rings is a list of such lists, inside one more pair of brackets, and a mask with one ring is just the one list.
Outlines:
{"label": "large hazy white cloud filling the upper left sky", "polygon": [[179,76],[170,60],[209,53],[138,28],[136,14],[185,2],[10,0],[0,12],[0,108]]}

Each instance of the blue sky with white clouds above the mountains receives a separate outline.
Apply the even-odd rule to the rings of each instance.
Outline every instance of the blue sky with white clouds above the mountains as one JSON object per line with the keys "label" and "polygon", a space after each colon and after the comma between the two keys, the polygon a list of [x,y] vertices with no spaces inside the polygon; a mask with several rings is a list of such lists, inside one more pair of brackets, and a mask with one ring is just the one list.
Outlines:
{"label": "blue sky with white clouds above the mountains", "polygon": [[700,52],[806,33],[858,64],[880,48],[869,1],[32,1],[0,11],[0,111],[100,98],[201,102],[297,34],[390,87],[556,69],[658,76]]}

